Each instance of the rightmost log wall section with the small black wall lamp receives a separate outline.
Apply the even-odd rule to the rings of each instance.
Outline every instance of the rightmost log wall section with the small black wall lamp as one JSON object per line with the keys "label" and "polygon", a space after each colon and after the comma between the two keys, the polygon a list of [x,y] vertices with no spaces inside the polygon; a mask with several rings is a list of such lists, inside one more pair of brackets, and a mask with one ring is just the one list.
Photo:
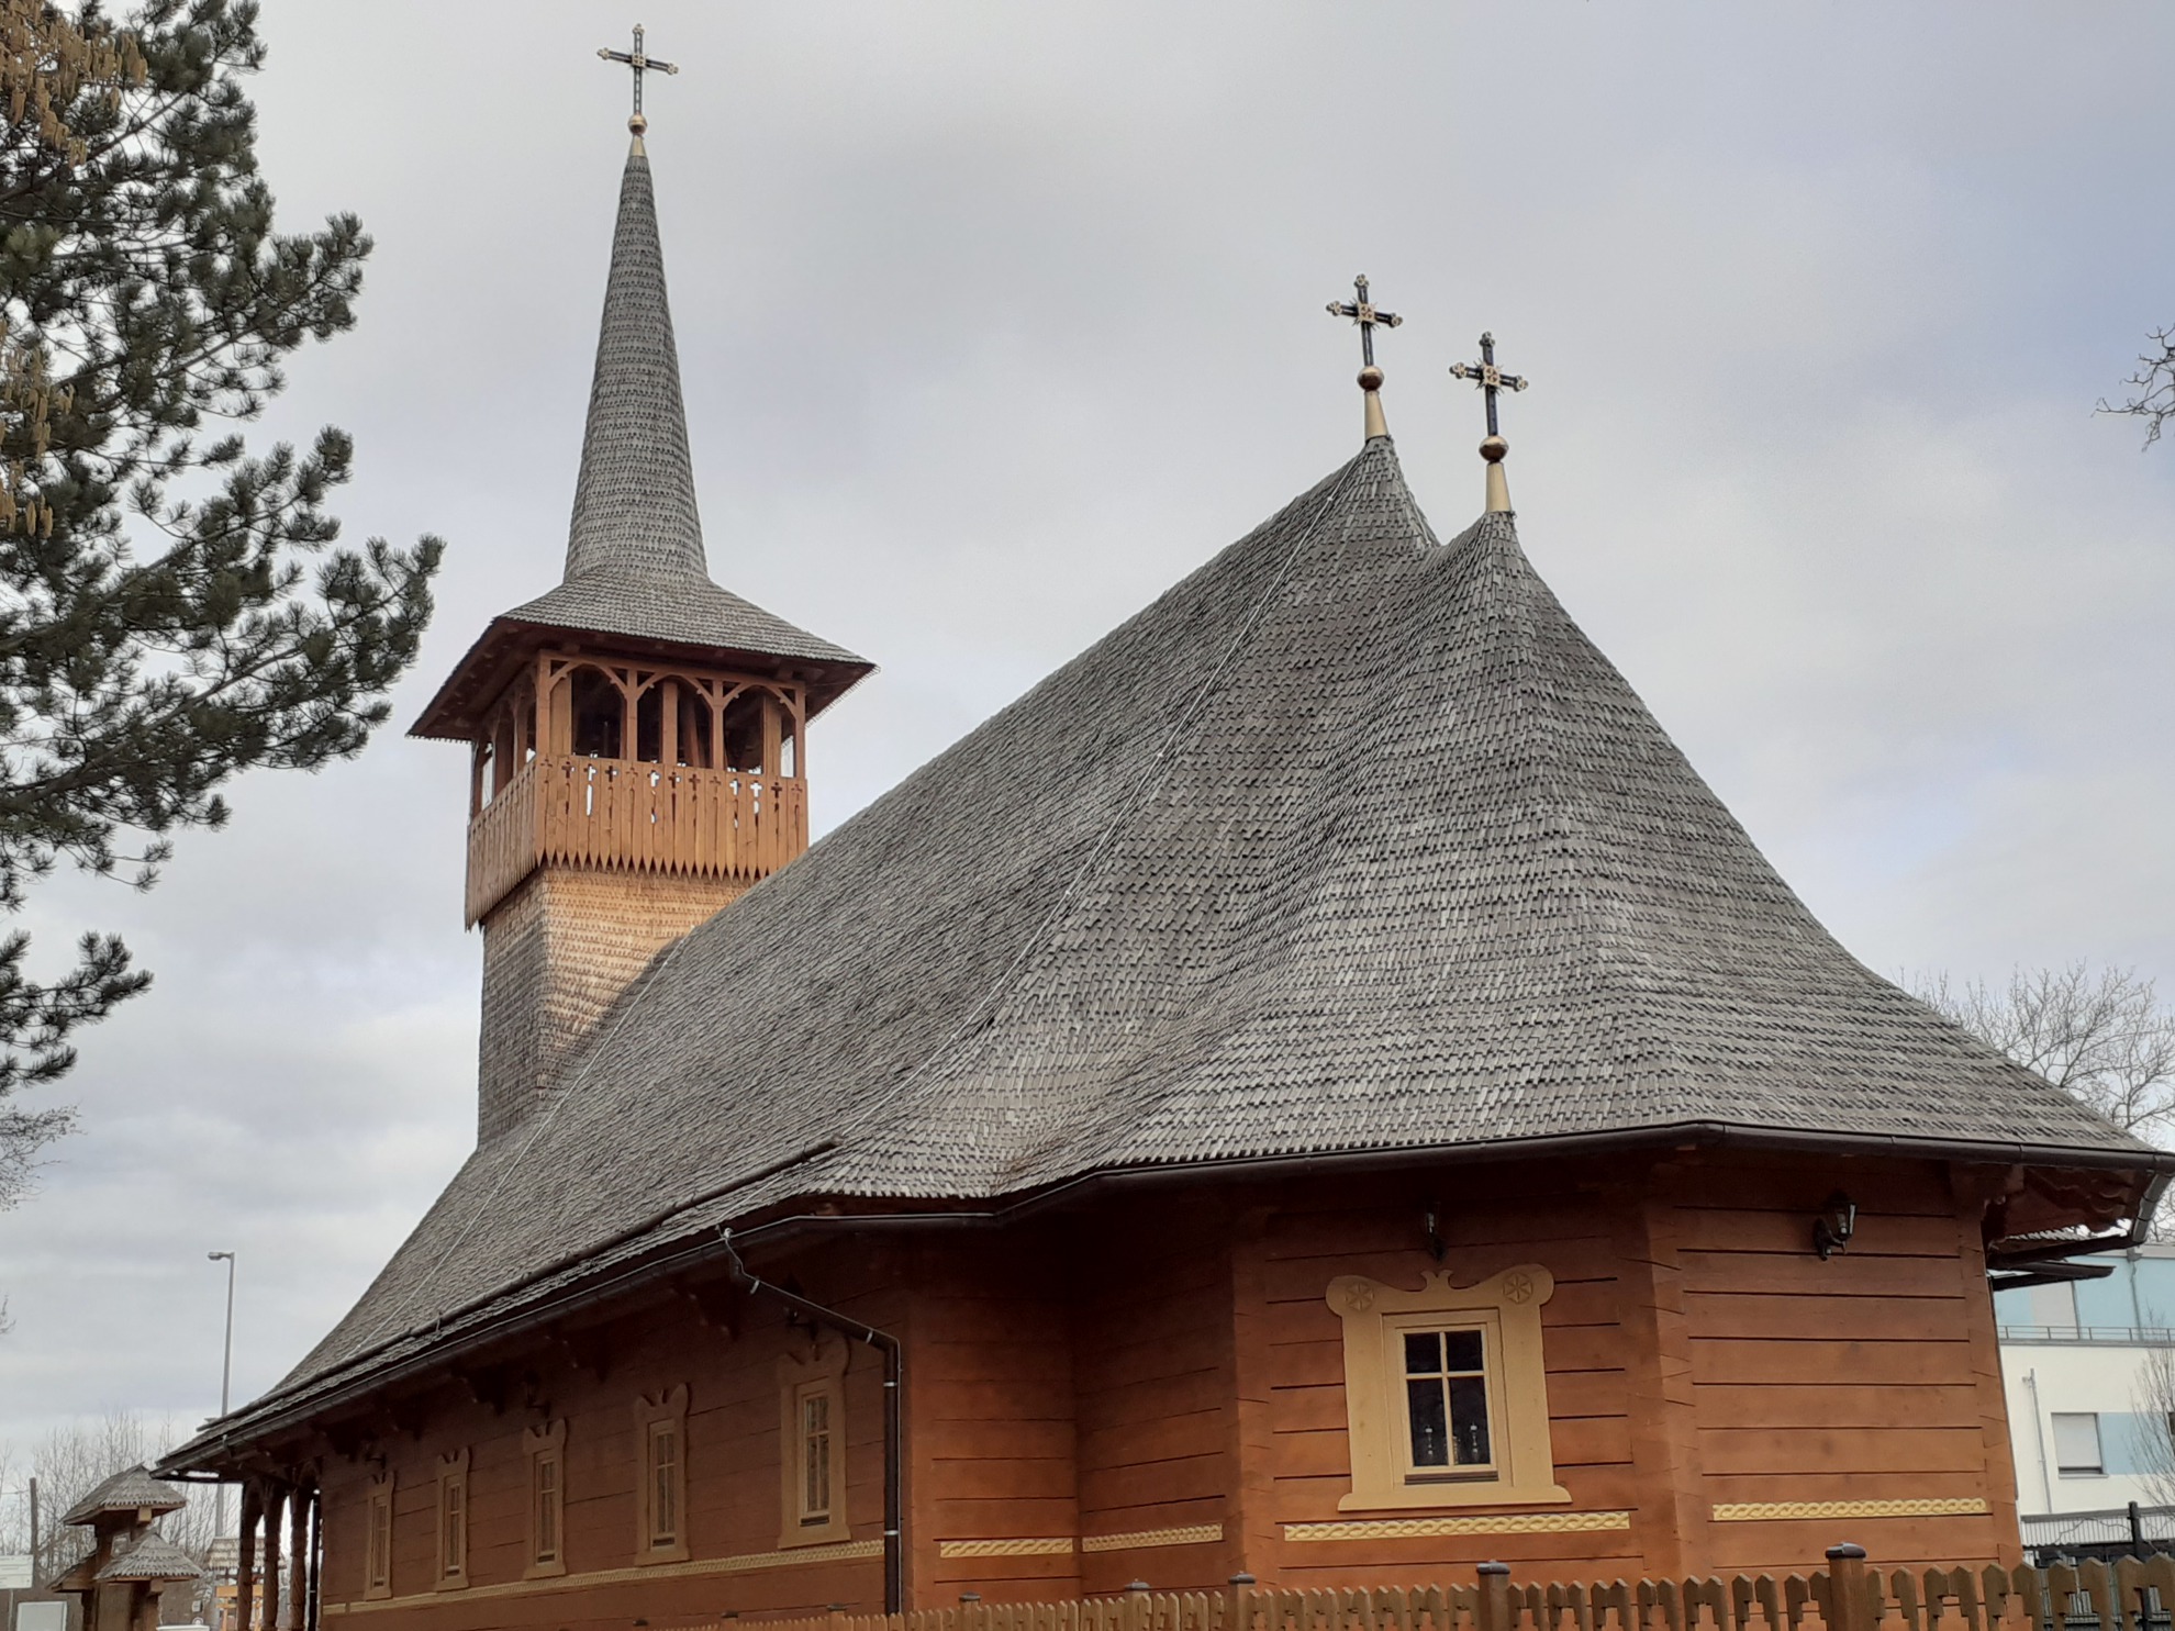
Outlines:
{"label": "rightmost log wall section with the small black wall lamp", "polygon": [[1934,1163],[1862,1163],[1857,1233],[1823,1263],[1823,1183],[1705,1170],[1677,1200],[1701,1487],[1731,1514],[1707,1566],[1803,1557],[1834,1527],[1803,1507],[1836,1501],[1903,1507],[1879,1522],[1894,1564],[2023,1561],[1977,1207]]}

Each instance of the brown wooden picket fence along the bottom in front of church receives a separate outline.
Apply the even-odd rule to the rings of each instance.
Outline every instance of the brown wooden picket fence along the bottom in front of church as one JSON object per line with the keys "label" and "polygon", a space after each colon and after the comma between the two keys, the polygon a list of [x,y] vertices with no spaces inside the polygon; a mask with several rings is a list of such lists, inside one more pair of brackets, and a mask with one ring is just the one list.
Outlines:
{"label": "brown wooden picket fence along the bottom in front of church", "polygon": [[[1129,1590],[1066,1603],[761,1620],[763,1631],[2175,1631],[2175,1557],[1879,1570],[1855,1546],[1807,1574],[1281,1592]],[[1840,1594],[1840,1596],[1838,1596]],[[744,1616],[716,1631],[744,1631]]]}

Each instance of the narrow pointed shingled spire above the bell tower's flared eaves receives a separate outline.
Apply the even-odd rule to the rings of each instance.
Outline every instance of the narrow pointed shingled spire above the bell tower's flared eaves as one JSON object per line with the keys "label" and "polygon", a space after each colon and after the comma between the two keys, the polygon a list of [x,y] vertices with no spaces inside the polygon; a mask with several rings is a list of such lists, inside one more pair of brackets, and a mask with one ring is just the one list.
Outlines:
{"label": "narrow pointed shingled spire above the bell tower's flared eaves", "polygon": [[585,572],[707,576],[657,198],[639,130],[620,176],[611,281],[566,541],[568,581]]}

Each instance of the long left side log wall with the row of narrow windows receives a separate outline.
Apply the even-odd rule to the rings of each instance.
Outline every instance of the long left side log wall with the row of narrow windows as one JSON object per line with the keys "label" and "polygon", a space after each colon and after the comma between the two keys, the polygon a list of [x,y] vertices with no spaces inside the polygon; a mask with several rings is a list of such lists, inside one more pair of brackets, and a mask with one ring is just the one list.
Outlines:
{"label": "long left side log wall with the row of narrow windows", "polygon": [[[813,1296],[883,1329],[905,1322],[903,1270],[885,1250],[822,1250],[796,1263]],[[846,1370],[846,1511],[859,1540],[781,1553],[779,1359],[809,1331],[776,1305],[737,1303],[718,1287],[657,1294],[602,1327],[481,1366],[468,1383],[402,1400],[348,1431],[350,1455],[328,1455],[322,1603],[326,1627],[502,1631],[790,1614],[842,1603],[883,1607],[883,1366],[853,1348]],[[687,1564],[637,1564],[635,1400],[687,1387]],[[481,1394],[481,1396],[478,1396]],[[531,1427],[566,1420],[566,1572],[529,1574]],[[465,1448],[468,1585],[437,1588],[437,1457]],[[391,1594],[365,1592],[368,1485],[381,1461],[396,1474]]]}

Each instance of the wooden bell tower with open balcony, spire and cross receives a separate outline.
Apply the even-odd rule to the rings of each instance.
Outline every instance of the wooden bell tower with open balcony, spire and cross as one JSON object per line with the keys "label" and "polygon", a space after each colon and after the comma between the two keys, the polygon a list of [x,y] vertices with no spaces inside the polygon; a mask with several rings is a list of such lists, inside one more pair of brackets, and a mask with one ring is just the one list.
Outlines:
{"label": "wooden bell tower with open balcony, spire and cross", "polygon": [[709,576],[631,126],[563,581],[494,618],[409,731],[470,744],[478,1144],[663,946],[807,848],[809,722],[870,670]]}

